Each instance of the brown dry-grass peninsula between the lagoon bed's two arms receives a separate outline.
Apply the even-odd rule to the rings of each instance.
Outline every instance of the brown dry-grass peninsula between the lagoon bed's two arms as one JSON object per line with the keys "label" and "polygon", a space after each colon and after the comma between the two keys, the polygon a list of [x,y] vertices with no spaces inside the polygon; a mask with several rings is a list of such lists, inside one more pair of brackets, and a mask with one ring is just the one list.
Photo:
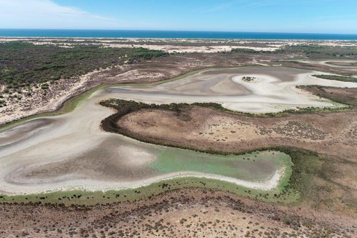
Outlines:
{"label": "brown dry-grass peninsula between the lagoon bed's two arms", "polygon": [[190,107],[180,113],[144,109],[121,117],[117,125],[139,138],[202,150],[237,151],[285,145],[354,159],[356,116],[357,112],[332,112],[250,117]]}

